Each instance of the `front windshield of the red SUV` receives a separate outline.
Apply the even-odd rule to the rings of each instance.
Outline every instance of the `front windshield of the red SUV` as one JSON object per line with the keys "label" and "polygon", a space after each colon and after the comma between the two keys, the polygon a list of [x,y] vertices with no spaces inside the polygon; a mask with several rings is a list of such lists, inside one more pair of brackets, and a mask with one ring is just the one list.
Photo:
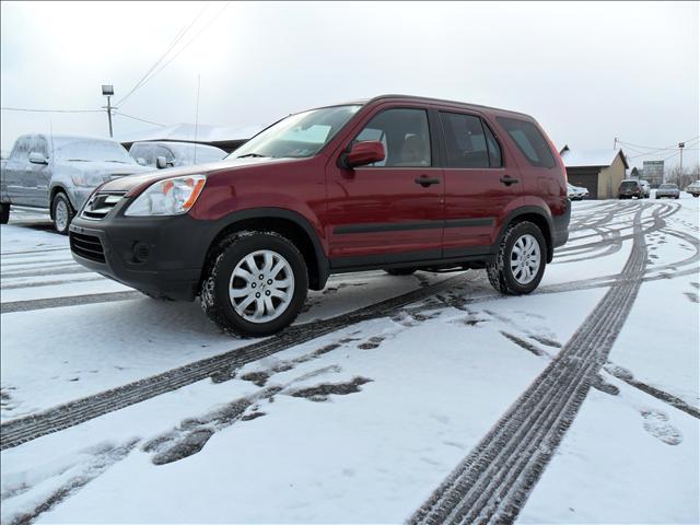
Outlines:
{"label": "front windshield of the red SUV", "polygon": [[326,145],[361,106],[332,106],[291,115],[248,140],[226,159],[303,159]]}

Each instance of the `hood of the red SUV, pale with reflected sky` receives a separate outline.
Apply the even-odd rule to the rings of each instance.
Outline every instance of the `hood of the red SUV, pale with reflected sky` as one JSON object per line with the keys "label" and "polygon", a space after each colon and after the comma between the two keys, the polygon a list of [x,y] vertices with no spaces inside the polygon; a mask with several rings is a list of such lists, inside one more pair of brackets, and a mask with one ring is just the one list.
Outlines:
{"label": "hood of the red SUV, pale with reflected sky", "polygon": [[[130,175],[128,177],[112,180],[105,184],[101,190],[106,191],[127,191],[130,195],[140,192],[153,183],[171,177],[184,177],[186,175],[211,175],[217,172],[231,171],[236,168],[245,168],[248,166],[257,166],[261,164],[284,164],[296,161],[298,159],[224,159],[223,161],[212,162],[210,164],[199,164],[195,166],[170,167],[166,170],[150,168],[149,173]],[[305,160],[305,159],[304,159]],[[141,166],[139,166],[141,167]]]}

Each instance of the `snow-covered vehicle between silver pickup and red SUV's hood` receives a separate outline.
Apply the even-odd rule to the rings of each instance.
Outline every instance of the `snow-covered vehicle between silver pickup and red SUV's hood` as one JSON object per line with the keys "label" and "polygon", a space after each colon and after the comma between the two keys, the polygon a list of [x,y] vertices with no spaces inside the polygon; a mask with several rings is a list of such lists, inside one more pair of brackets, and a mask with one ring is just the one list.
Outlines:
{"label": "snow-covered vehicle between silver pickup and red SUV's hood", "polygon": [[222,160],[228,153],[219,148],[192,142],[135,142],[129,154],[142,166],[165,167],[208,164]]}

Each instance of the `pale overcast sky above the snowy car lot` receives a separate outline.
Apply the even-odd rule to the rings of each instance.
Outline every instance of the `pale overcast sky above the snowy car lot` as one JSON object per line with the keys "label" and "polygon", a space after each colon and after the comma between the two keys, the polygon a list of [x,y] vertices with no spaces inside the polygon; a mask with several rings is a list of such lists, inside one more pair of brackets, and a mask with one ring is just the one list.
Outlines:
{"label": "pale overcast sky above the snowy car lot", "polygon": [[[268,124],[292,112],[405,93],[533,115],[572,149],[630,164],[698,162],[699,3],[2,2],[2,107],[119,110],[160,124]],[[174,57],[174,58],[173,58]],[[3,109],[2,149],[25,132],[107,136],[104,113]],[[115,136],[152,125],[115,116]],[[670,156],[669,155],[674,155]]]}

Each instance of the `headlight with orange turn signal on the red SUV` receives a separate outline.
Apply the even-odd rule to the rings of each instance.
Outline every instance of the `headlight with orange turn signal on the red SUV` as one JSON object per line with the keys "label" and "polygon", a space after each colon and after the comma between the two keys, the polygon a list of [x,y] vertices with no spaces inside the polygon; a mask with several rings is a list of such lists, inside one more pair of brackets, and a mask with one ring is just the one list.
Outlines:
{"label": "headlight with orange turn signal on the red SUV", "polygon": [[124,214],[145,217],[187,213],[201,194],[206,180],[203,175],[160,180],[139,195]]}

